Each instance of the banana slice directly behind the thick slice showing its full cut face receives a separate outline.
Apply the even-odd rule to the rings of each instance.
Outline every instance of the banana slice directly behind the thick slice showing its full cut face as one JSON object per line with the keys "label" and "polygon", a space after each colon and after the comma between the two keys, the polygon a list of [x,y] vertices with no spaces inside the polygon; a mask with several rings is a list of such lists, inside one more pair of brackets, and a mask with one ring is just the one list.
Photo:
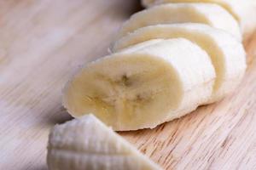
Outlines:
{"label": "banana slice directly behind the thick slice showing its full cut face", "polygon": [[230,94],[246,70],[246,54],[241,42],[225,31],[201,24],[147,26],[121,38],[113,45],[113,52],[155,38],[184,37],[197,43],[212,58],[216,82],[212,98],[206,104]]}

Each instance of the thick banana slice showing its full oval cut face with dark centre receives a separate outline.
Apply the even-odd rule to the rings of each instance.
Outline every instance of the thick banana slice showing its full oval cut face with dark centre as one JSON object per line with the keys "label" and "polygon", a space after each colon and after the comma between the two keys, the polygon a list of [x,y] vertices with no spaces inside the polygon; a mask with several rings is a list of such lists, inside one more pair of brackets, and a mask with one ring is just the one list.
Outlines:
{"label": "thick banana slice showing its full oval cut face with dark centre", "polygon": [[214,78],[211,59],[194,43],[154,40],[85,65],[67,83],[63,105],[116,131],[153,128],[206,102]]}

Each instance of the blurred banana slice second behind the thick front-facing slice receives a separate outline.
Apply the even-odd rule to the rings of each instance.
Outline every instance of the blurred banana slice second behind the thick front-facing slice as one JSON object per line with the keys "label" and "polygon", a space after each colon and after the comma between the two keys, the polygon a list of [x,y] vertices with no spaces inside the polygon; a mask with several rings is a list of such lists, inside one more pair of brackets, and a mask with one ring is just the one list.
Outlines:
{"label": "blurred banana slice second behind the thick front-facing slice", "polygon": [[144,26],[173,23],[202,23],[230,32],[241,41],[241,30],[224,8],[212,3],[168,3],[133,14],[121,27],[119,37]]}

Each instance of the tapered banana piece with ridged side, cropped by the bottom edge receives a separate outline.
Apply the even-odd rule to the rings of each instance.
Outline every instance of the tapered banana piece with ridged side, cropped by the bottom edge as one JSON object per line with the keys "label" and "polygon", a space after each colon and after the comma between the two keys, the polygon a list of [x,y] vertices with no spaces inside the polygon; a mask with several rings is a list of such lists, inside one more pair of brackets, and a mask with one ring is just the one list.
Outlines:
{"label": "tapered banana piece with ridged side, cropped by the bottom edge", "polygon": [[95,116],[61,125],[49,134],[49,170],[160,170]]}

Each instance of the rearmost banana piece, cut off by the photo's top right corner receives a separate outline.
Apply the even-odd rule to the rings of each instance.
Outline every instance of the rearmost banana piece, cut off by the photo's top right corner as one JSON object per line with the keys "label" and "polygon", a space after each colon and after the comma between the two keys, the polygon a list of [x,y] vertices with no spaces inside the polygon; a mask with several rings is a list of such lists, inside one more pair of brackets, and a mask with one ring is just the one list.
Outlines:
{"label": "rearmost banana piece, cut off by the photo's top right corner", "polygon": [[255,0],[153,0],[144,2],[144,5],[150,7],[162,3],[217,3],[236,18],[241,26],[244,37],[256,29]]}

